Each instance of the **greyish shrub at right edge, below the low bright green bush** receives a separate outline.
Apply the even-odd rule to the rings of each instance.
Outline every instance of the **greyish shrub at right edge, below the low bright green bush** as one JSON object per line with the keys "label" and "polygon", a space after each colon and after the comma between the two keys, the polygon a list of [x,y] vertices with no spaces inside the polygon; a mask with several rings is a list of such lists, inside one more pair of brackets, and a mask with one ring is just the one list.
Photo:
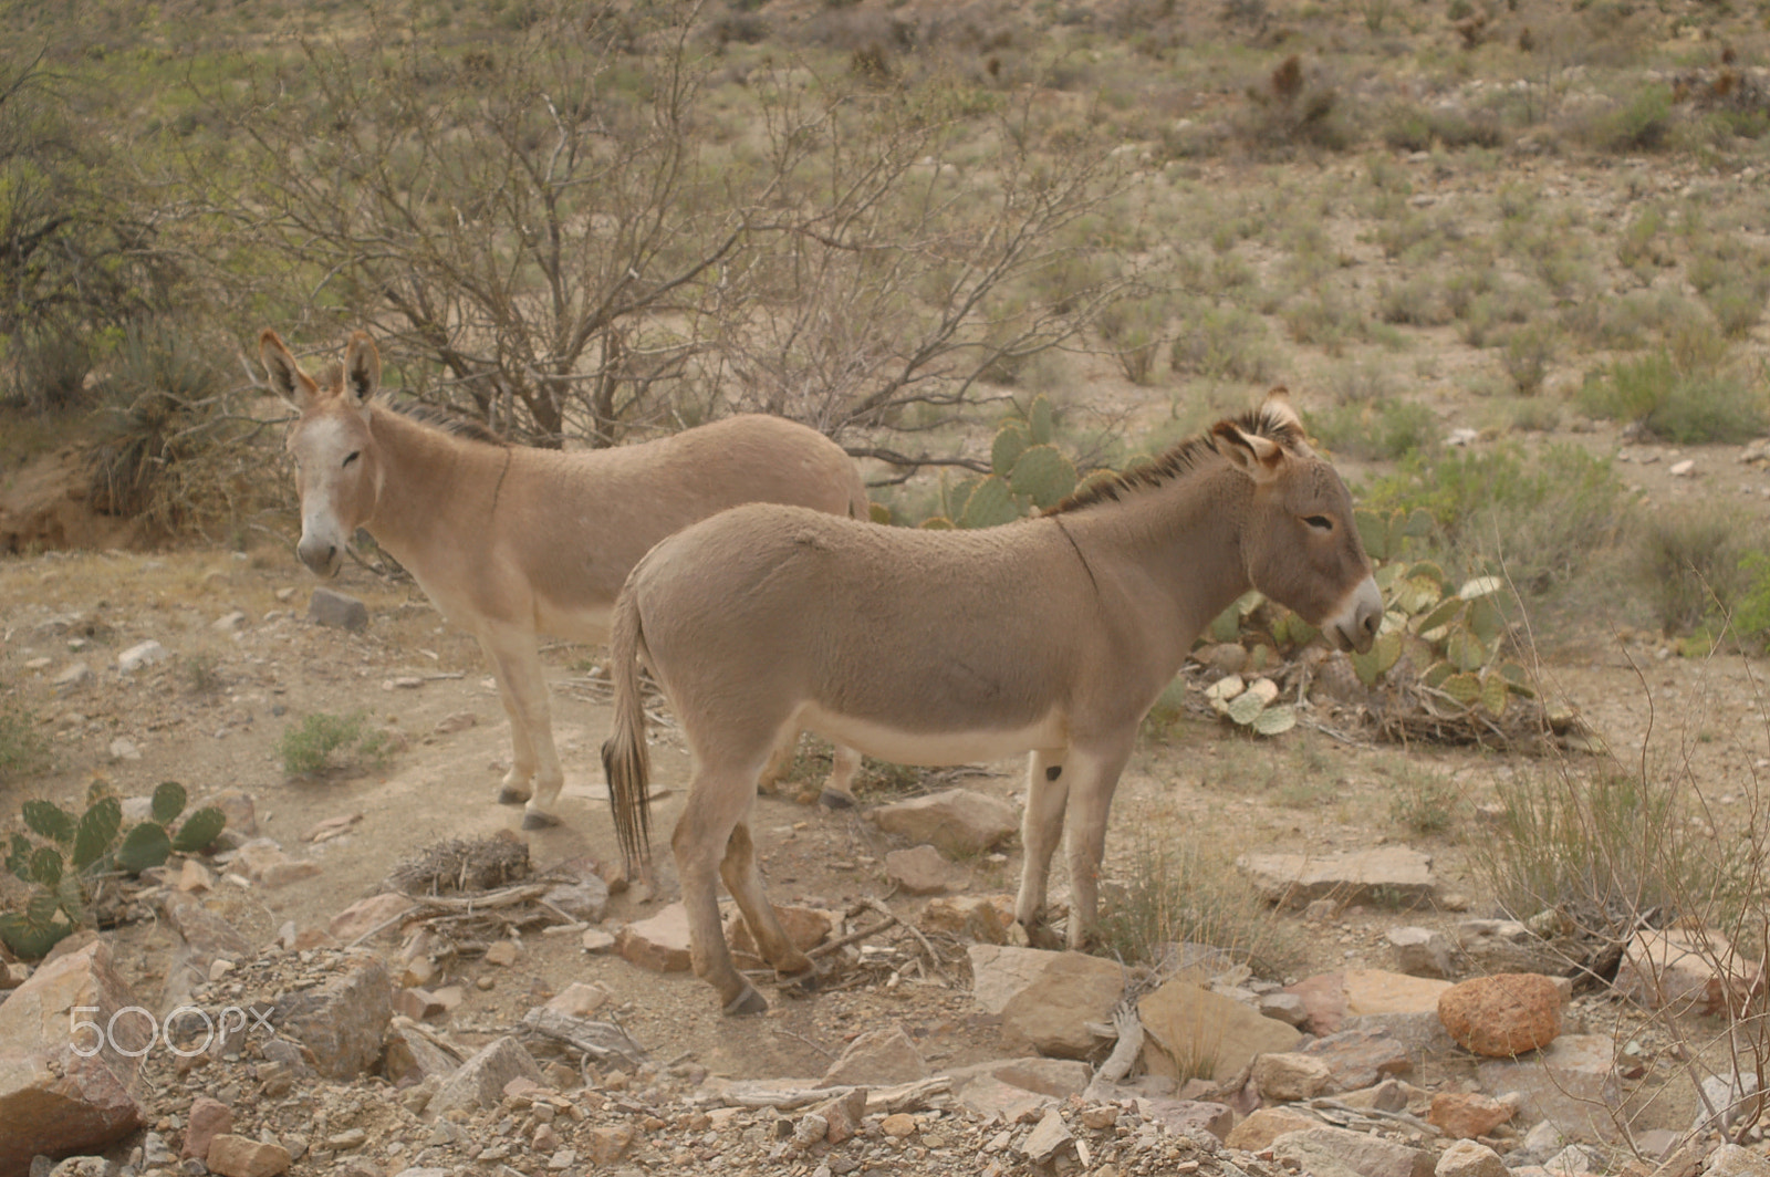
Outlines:
{"label": "greyish shrub at right edge, below the low bright green bush", "polygon": [[1756,529],[1726,508],[1664,512],[1641,527],[1639,570],[1667,634],[1690,634],[1747,596]]}

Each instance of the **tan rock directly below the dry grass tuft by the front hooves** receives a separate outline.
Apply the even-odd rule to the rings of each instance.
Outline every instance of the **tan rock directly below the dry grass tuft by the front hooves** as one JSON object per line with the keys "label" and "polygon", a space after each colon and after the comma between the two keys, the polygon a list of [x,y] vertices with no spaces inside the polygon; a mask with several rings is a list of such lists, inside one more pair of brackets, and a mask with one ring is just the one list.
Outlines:
{"label": "tan rock directly below the dry grass tuft by the front hooves", "polygon": [[1294,1050],[1301,1039],[1294,1027],[1189,981],[1168,981],[1145,995],[1138,1014],[1147,1035],[1143,1064],[1168,1078],[1209,1071],[1211,1081],[1225,1083],[1255,1055]]}

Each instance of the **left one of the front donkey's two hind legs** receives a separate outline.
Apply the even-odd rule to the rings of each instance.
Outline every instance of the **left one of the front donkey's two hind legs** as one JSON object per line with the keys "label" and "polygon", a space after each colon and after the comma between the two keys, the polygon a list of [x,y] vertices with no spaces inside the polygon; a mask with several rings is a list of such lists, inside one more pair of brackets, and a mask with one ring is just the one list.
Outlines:
{"label": "left one of the front donkey's two hind legs", "polygon": [[[731,963],[726,929],[719,922],[719,876],[733,832],[756,800],[756,772],[696,766],[689,804],[671,834],[681,903],[689,915],[689,956],[694,975],[719,989],[727,1014],[759,1014],[768,1009],[763,995]],[[747,835],[745,835],[747,837]],[[754,924],[752,924],[754,927]]]}

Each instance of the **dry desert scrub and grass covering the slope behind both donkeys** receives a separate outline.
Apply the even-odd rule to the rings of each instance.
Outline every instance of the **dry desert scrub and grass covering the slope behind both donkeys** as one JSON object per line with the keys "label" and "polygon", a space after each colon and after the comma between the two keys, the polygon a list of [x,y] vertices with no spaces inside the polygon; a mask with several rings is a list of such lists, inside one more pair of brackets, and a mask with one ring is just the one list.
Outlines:
{"label": "dry desert scrub and grass covering the slope behind both donkeys", "polygon": [[[1363,689],[1411,674],[1547,724],[1563,655],[1770,646],[1766,19],[1752,0],[12,5],[0,487],[78,439],[97,512],[285,542],[281,409],[248,359],[264,326],[303,354],[368,329],[405,395],[529,444],[784,414],[864,458],[899,526],[1037,512],[1285,384],[1382,535],[1393,641]],[[1310,637],[1243,602],[1209,641],[1264,669],[1301,667]],[[1294,685],[1212,701],[1255,740],[1292,727]],[[1189,706],[1214,713],[1177,683],[1147,735]],[[361,738],[359,715],[315,713],[280,752],[322,773],[379,758]],[[1756,773],[1720,821],[1689,758],[1611,752],[1531,761],[1492,798],[1499,908],[1561,913],[1575,949],[1676,912],[1761,958]],[[1455,779],[1388,763],[1388,804],[1358,818],[1467,846]],[[0,696],[0,782],[51,765]],[[1308,811],[1319,775],[1264,791]],[[1204,848],[1124,855],[1126,959],[1216,938],[1283,972],[1290,945]],[[1770,1065],[1761,1011],[1731,1034]]]}

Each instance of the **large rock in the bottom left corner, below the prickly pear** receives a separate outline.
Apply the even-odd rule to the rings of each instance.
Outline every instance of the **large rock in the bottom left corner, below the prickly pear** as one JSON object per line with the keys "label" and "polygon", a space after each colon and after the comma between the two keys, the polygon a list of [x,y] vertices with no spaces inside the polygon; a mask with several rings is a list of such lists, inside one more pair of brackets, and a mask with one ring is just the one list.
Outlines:
{"label": "large rock in the bottom left corner, below the prickly pear", "polygon": [[[71,1025],[76,1005],[96,1007]],[[37,1154],[104,1149],[142,1127],[131,1094],[147,1053],[145,1018],[115,1018],[136,1005],[103,940],[44,961],[0,1004],[0,1173],[25,1173]],[[74,1053],[97,1051],[92,1057]]]}

